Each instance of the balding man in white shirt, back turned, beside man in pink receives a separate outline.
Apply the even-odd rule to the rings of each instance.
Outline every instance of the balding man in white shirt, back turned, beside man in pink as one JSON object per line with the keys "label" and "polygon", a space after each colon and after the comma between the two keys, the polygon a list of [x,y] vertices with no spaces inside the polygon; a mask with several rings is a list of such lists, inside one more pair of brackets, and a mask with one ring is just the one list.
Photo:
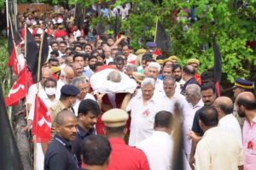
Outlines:
{"label": "balding man in white shirt, back turned, beside man in pink", "polygon": [[232,100],[228,97],[218,97],[214,101],[213,106],[218,111],[218,127],[221,127],[229,133],[234,133],[241,141],[240,125],[236,117],[232,115],[234,110]]}

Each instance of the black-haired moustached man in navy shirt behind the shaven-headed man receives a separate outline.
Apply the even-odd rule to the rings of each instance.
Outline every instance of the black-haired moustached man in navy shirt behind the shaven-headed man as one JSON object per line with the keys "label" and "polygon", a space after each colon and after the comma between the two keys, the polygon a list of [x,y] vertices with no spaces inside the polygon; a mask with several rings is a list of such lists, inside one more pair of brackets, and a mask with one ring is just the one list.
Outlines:
{"label": "black-haired moustached man in navy shirt behind the shaven-headed man", "polygon": [[79,105],[79,126],[76,139],[73,141],[73,152],[79,161],[81,167],[82,145],[84,139],[89,135],[96,134],[95,124],[97,117],[100,115],[100,107],[92,99],[84,99]]}

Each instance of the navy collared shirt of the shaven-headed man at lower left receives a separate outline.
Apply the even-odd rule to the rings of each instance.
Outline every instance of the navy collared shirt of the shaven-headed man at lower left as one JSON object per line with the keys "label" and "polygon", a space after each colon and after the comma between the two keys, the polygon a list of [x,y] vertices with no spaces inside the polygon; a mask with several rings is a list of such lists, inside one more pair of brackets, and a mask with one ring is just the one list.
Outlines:
{"label": "navy collared shirt of the shaven-headed man at lower left", "polygon": [[44,170],[79,170],[70,141],[55,134],[44,156]]}

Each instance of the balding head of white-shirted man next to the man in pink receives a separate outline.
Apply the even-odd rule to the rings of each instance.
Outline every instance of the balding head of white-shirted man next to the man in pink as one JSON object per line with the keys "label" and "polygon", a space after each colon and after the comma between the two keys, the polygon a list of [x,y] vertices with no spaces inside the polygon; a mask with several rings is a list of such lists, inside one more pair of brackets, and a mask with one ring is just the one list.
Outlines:
{"label": "balding head of white-shirted man next to the man in pink", "polygon": [[216,109],[220,109],[224,115],[232,113],[234,109],[232,100],[225,96],[215,99],[213,105]]}

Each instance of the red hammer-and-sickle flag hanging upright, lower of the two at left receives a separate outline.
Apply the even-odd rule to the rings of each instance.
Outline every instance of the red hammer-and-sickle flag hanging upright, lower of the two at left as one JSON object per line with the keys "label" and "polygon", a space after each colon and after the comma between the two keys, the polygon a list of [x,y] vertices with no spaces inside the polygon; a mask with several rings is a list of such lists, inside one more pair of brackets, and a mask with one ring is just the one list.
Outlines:
{"label": "red hammer-and-sickle flag hanging upright, lower of the two at left", "polygon": [[36,136],[36,143],[49,142],[51,119],[50,113],[42,99],[36,95],[35,111],[32,124],[32,134]]}

